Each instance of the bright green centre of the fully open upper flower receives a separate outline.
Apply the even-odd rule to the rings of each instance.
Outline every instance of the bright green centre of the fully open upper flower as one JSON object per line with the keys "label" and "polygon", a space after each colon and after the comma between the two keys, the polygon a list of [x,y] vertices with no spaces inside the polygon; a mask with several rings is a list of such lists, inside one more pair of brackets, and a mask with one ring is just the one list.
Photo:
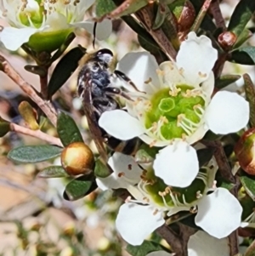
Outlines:
{"label": "bright green centre of the fully open upper flower", "polygon": [[199,127],[204,109],[200,91],[187,85],[178,86],[176,93],[164,88],[150,99],[145,128],[156,139],[184,138]]}

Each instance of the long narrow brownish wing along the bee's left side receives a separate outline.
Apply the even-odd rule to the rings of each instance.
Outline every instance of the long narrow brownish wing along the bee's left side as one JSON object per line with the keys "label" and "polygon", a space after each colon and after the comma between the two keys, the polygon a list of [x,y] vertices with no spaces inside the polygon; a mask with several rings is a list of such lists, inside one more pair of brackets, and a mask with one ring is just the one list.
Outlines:
{"label": "long narrow brownish wing along the bee's left side", "polygon": [[112,169],[107,163],[108,155],[105,150],[105,145],[103,144],[103,140],[102,140],[102,133],[94,113],[93,100],[91,97],[91,82],[87,80],[86,83],[87,84],[84,87],[84,93],[83,93],[83,106],[84,106],[85,115],[88,120],[88,128],[90,130],[92,139],[94,139],[94,143],[99,151],[99,155],[102,161],[105,163],[105,165],[109,168],[109,170],[112,173]]}

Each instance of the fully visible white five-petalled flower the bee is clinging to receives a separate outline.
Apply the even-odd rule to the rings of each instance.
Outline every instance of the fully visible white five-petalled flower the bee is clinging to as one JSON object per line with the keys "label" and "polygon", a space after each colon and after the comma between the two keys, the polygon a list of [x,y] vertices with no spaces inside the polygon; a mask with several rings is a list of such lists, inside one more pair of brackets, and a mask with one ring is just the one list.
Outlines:
{"label": "fully visible white five-petalled flower the bee is clinging to", "polygon": [[249,119],[248,102],[240,95],[226,91],[212,95],[216,60],[211,40],[196,37],[195,32],[181,43],[176,62],[158,66],[149,53],[127,54],[117,69],[140,92],[122,83],[134,101],[127,101],[127,111],[105,111],[99,126],[117,139],[139,136],[150,146],[166,146],[156,156],[156,175],[167,185],[190,185],[199,169],[190,145],[208,129],[215,134],[235,133]]}

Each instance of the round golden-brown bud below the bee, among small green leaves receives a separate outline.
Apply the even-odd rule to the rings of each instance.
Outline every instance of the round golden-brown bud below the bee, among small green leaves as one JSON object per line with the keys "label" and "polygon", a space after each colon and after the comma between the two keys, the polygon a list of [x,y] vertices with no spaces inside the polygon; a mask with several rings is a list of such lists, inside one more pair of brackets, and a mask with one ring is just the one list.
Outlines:
{"label": "round golden-brown bud below the bee, among small green leaves", "polygon": [[73,142],[62,151],[61,164],[67,174],[88,174],[94,168],[94,155],[88,145]]}

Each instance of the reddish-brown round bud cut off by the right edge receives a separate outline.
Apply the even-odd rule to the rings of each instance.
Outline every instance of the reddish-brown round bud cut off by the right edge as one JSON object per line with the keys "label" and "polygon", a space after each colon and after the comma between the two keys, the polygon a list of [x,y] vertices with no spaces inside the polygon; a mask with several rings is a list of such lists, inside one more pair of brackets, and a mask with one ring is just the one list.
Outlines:
{"label": "reddish-brown round bud cut off by the right edge", "polygon": [[241,168],[255,175],[255,128],[247,130],[235,145],[235,156]]}

